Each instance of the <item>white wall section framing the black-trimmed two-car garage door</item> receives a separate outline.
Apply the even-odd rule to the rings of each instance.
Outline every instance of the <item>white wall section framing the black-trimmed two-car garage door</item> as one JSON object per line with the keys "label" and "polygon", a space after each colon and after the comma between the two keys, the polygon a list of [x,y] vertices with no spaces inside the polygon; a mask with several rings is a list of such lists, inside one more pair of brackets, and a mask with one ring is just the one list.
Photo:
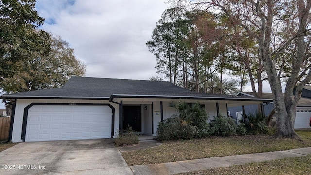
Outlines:
{"label": "white wall section framing the black-trimmed two-car garage door", "polygon": [[[61,100],[61,99],[17,99],[12,130],[12,142],[21,142],[21,132],[24,118],[24,108],[31,103],[103,103],[115,108],[114,135],[119,129],[119,105],[108,100]],[[115,137],[115,136],[114,136]]]}

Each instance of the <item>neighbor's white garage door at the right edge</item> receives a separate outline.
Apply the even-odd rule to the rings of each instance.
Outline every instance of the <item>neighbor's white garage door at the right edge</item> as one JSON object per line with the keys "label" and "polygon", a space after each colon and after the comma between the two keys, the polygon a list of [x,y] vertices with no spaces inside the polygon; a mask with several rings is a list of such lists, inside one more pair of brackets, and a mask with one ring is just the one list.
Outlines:
{"label": "neighbor's white garage door at the right edge", "polygon": [[309,125],[311,117],[311,108],[304,108],[296,110],[295,129],[311,128]]}

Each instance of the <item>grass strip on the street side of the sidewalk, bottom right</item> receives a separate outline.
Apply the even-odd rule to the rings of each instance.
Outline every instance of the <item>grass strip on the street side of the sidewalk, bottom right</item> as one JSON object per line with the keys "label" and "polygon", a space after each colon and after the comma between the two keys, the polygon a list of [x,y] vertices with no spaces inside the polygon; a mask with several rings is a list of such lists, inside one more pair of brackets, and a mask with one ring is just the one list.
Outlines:
{"label": "grass strip on the street side of the sidewalk, bottom right", "polygon": [[310,175],[311,156],[215,168],[178,175]]}

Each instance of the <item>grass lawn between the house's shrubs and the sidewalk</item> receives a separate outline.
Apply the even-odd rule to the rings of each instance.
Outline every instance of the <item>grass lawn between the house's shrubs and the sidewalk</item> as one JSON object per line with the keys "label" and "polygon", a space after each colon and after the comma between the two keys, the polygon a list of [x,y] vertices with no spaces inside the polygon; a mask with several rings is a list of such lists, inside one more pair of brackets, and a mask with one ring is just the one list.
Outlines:
{"label": "grass lawn between the house's shrubs and the sidewalk", "polygon": [[154,148],[123,152],[122,156],[131,166],[311,147],[311,131],[296,132],[303,142],[270,135],[208,137],[164,142]]}

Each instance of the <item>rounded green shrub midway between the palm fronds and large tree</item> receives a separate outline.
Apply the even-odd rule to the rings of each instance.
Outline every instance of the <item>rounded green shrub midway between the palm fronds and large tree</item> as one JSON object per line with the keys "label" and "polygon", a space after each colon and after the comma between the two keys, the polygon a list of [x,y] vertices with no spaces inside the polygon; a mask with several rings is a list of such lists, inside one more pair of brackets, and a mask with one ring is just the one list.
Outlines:
{"label": "rounded green shrub midway between the palm fronds and large tree", "polygon": [[231,117],[214,116],[214,119],[209,123],[211,135],[214,136],[231,136],[237,134],[238,126]]}

